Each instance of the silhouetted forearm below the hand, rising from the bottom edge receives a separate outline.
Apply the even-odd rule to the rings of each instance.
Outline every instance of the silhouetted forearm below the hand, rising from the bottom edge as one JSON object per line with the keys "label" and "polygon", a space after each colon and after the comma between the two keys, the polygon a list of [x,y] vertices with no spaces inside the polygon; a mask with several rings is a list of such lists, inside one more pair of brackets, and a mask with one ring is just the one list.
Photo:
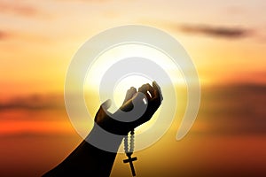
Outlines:
{"label": "silhouetted forearm below the hand, rising from the bottom edge", "polygon": [[121,140],[122,136],[112,139],[95,126],[86,140],[44,176],[109,176]]}

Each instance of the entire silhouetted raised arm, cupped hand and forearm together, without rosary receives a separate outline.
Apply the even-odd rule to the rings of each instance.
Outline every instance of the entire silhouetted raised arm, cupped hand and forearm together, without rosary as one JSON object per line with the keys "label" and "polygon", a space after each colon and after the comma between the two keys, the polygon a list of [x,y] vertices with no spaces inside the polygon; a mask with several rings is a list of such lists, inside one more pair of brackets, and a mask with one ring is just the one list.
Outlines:
{"label": "entire silhouetted raised arm, cupped hand and forearm together, without rosary", "polygon": [[[144,84],[138,90],[130,88],[121,107],[113,114],[107,109],[111,101],[102,104],[95,116],[95,123],[104,130],[115,135],[127,135],[133,128],[145,123],[153,117],[162,101],[160,87],[153,81]],[[124,120],[124,121],[123,121]],[[128,121],[126,121],[128,120]],[[123,136],[103,134],[95,126],[82,143],[59,165],[44,173],[45,176],[110,176],[116,152]],[[88,140],[88,142],[87,142]],[[90,144],[96,142],[99,147]]]}

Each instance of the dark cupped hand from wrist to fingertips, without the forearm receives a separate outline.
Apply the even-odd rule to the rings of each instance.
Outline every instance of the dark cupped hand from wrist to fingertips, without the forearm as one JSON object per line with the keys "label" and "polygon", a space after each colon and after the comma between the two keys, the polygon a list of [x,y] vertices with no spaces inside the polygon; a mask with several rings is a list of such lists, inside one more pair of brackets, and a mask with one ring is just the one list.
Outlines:
{"label": "dark cupped hand from wrist to fingertips, without the forearm", "polygon": [[162,99],[160,87],[155,81],[153,81],[153,87],[148,83],[138,90],[131,87],[120,109],[113,114],[107,111],[111,100],[101,104],[95,122],[110,133],[127,135],[130,130],[153,117]]}

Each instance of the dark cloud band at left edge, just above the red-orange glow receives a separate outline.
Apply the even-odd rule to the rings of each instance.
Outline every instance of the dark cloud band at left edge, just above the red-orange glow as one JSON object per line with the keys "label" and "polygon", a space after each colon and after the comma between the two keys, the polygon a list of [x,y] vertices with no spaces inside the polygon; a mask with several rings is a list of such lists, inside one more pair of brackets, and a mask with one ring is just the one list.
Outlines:
{"label": "dark cloud band at left edge, just above the red-orange glow", "polygon": [[64,100],[59,96],[24,96],[15,97],[10,100],[0,101],[1,111],[12,110],[44,110],[44,109],[59,109],[64,107]]}

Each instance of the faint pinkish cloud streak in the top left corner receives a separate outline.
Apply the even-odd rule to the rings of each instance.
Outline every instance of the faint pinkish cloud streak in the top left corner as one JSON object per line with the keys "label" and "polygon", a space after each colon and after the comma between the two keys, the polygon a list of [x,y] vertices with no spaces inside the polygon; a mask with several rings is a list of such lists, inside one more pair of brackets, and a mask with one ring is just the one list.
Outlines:
{"label": "faint pinkish cloud streak in the top left corner", "polygon": [[37,10],[29,5],[29,4],[22,4],[19,1],[16,2],[0,2],[0,12],[11,12],[20,15],[35,15]]}

